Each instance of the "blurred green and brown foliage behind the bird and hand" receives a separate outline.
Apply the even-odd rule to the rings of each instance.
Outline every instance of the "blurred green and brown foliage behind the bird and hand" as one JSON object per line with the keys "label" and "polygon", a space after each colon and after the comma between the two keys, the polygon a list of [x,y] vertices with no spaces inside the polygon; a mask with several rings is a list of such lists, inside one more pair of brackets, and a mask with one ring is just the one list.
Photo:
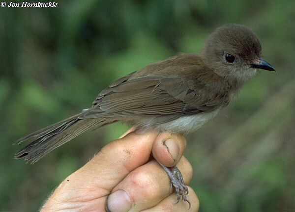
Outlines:
{"label": "blurred green and brown foliage behind the bird and hand", "polygon": [[[201,211],[295,210],[295,1],[72,0],[0,8],[0,210],[36,211],[51,191],[128,126],[78,136],[34,165],[18,138],[88,108],[115,79],[177,52],[199,52],[216,27],[260,37],[277,70],[187,135]],[[214,129],[214,133],[212,133]]]}

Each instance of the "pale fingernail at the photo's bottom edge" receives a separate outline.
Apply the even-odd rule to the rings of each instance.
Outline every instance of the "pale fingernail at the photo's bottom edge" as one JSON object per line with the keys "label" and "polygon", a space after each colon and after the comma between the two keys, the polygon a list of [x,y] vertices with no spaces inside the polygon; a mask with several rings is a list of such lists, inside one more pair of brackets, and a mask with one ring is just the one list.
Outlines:
{"label": "pale fingernail at the photo's bottom edge", "polygon": [[124,190],[117,190],[108,196],[106,202],[107,212],[127,212],[131,209],[131,207],[131,199],[127,192]]}

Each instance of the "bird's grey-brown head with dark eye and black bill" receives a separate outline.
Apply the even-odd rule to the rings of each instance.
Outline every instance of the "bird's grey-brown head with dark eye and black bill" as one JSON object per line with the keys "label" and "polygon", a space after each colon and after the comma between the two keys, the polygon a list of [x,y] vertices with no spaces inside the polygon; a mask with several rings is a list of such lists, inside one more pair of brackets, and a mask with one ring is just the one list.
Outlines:
{"label": "bird's grey-brown head with dark eye and black bill", "polygon": [[260,41],[251,29],[230,24],[209,36],[201,57],[216,74],[242,84],[254,77],[258,69],[275,71],[261,58],[261,52]]}

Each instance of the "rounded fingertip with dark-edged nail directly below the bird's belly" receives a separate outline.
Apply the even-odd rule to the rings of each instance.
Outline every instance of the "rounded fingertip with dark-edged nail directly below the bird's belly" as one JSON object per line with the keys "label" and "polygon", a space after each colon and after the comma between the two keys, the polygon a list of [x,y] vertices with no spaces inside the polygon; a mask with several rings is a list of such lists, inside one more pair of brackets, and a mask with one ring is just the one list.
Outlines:
{"label": "rounded fingertip with dark-edged nail directly below the bird's belly", "polygon": [[167,167],[175,166],[186,148],[181,134],[161,133],[152,146],[153,157]]}

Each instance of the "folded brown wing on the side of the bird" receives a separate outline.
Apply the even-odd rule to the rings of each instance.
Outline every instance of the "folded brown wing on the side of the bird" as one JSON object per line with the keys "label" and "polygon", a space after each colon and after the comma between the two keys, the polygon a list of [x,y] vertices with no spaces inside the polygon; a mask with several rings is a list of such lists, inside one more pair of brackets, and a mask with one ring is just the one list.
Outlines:
{"label": "folded brown wing on the side of the bird", "polygon": [[[181,71],[198,71],[194,69],[196,67],[189,66]],[[224,94],[212,92],[202,77],[149,75],[132,79],[131,76],[121,78],[103,90],[89,111],[79,118],[196,114],[214,110],[224,103],[221,98]]]}

